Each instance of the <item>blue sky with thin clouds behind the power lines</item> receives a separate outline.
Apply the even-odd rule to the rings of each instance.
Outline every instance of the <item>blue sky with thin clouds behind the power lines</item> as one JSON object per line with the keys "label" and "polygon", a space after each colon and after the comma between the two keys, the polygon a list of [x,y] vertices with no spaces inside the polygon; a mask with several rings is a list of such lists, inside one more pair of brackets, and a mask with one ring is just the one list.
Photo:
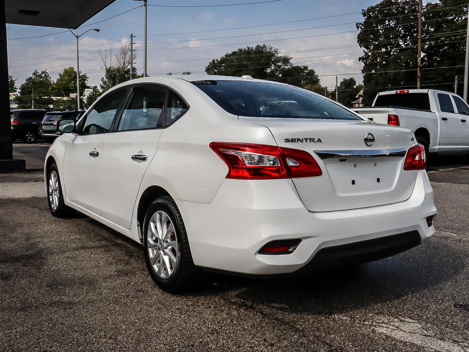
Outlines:
{"label": "blue sky with thin clouds behind the power lines", "polygon": [[[254,1],[148,0],[148,4],[194,6]],[[357,31],[354,23],[363,20],[363,17],[356,12],[360,12],[363,8],[374,5],[376,2],[376,0],[283,0],[264,4],[211,8],[149,6],[148,74],[157,76],[166,74],[169,71],[173,73],[182,71],[202,73],[210,58],[219,58],[239,47],[266,43],[279,48],[280,52],[286,52],[292,56],[294,58],[293,62],[308,65],[310,68],[315,69],[318,75],[341,75],[339,76],[340,81],[343,77],[352,76],[343,74],[360,72],[362,66],[358,61],[359,54],[357,53],[360,53],[361,50],[356,44]],[[98,15],[84,23],[83,26],[117,15],[131,8],[136,8],[141,4],[143,4],[142,1],[116,0]],[[349,13],[356,14],[343,15]],[[334,15],[340,16],[313,19]],[[300,22],[272,24],[289,21]],[[108,21],[76,30],[78,34],[81,34],[89,28],[97,27],[100,29],[99,33],[89,31],[80,38],[80,70],[87,72],[90,77],[90,85],[99,86],[100,77],[102,76],[103,65],[98,50],[105,50],[113,46],[113,54],[115,54],[120,43],[128,40],[130,33],[138,36],[134,39],[134,42],[137,43],[134,45],[134,49],[138,53],[135,61],[139,72],[142,71],[143,23],[144,8],[141,7]],[[256,25],[265,26],[212,31]],[[322,26],[329,27],[312,28]],[[8,38],[41,36],[60,31],[62,30],[50,27],[7,25]],[[195,31],[211,32],[174,34]],[[235,36],[236,38],[220,38]],[[118,40],[121,40],[121,42],[106,44]],[[170,41],[172,43],[161,43]],[[249,44],[238,44],[248,42]],[[94,47],[88,48],[91,46]],[[335,46],[349,47],[331,48]],[[297,52],[290,53],[292,51]],[[196,61],[196,59],[201,60]],[[17,79],[17,86],[34,69],[47,69],[47,72],[55,79],[58,72],[61,72],[64,67],[75,67],[76,39],[69,32],[43,38],[9,39],[8,61],[10,74]],[[353,75],[353,77],[356,77],[359,82],[362,79],[361,75]],[[335,77],[333,76],[320,78],[322,84],[328,86],[335,84]]]}

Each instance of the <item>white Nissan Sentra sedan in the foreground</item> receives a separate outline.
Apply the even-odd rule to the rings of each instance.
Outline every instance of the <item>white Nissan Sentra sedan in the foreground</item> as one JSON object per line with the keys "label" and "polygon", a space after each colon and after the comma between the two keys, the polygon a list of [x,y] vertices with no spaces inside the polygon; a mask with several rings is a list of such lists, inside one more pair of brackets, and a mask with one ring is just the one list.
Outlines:
{"label": "white Nissan Sentra sedan in the foreground", "polygon": [[287,84],[139,78],[58,129],[45,161],[51,213],[78,210],[143,244],[166,291],[201,268],[265,275],[377,260],[435,231],[410,130]]}

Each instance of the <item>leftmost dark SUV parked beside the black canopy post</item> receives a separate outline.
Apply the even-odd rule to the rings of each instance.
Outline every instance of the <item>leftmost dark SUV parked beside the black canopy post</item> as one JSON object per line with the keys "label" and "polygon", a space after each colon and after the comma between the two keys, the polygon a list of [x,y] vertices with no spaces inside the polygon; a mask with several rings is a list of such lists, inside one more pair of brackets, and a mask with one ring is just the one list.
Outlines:
{"label": "leftmost dark SUV parked beside the black canopy post", "polygon": [[38,138],[38,130],[44,114],[44,109],[10,110],[12,140],[23,139],[26,143],[34,142]]}

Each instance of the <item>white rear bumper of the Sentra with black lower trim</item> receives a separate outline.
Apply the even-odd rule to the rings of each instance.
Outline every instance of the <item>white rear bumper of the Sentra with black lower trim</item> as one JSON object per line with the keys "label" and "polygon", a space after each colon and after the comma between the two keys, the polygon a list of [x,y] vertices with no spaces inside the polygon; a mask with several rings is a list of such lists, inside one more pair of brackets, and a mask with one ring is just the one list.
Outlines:
{"label": "white rear bumper of the Sentra with black lower trim", "polygon": [[[209,204],[176,203],[194,263],[243,274],[376,260],[418,245],[435,232],[426,222],[436,208],[424,170],[418,171],[409,199],[377,207],[311,213],[289,179],[226,179]],[[291,254],[258,253],[270,241],[293,238],[302,242]]]}

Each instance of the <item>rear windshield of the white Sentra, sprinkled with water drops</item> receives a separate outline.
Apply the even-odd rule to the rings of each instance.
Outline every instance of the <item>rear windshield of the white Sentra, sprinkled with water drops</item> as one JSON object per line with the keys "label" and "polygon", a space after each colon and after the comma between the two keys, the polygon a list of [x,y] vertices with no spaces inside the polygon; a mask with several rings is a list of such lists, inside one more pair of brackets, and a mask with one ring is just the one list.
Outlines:
{"label": "rear windshield of the white Sentra, sprinkled with water drops", "polygon": [[202,81],[194,85],[233,115],[362,120],[318,94],[291,85],[234,80]]}

